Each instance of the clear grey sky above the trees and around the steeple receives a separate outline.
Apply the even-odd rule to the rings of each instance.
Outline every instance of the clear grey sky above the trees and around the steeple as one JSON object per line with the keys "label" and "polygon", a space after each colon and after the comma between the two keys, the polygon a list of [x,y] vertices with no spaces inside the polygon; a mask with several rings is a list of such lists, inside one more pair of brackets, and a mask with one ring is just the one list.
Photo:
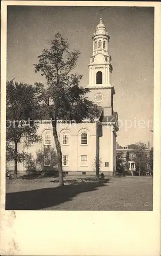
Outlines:
{"label": "clear grey sky above the trees and around the steeple", "polygon": [[[81,86],[89,83],[92,35],[103,7],[8,6],[7,80],[44,82],[35,73],[38,55],[47,41],[60,32],[70,49],[82,52],[75,72],[83,74]],[[154,8],[105,7],[102,21],[110,35],[114,111],[118,112],[120,145],[143,141],[153,145]]]}

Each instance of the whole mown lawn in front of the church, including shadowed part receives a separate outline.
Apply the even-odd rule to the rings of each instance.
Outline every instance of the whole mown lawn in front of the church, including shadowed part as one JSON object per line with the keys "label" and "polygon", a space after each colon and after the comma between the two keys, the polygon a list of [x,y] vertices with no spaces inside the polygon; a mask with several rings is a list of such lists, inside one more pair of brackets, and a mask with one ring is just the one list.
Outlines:
{"label": "whole mown lawn in front of the church, including shadowed part", "polygon": [[[108,179],[107,179],[108,178]],[[106,177],[106,182],[78,177],[6,180],[6,209],[152,210],[152,177]]]}

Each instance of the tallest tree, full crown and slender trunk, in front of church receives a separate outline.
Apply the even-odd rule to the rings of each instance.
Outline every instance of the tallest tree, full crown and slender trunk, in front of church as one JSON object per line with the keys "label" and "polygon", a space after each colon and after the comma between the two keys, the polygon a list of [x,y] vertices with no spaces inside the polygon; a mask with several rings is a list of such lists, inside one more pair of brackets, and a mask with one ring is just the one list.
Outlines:
{"label": "tallest tree, full crown and slender trunk, in front of church", "polygon": [[49,41],[49,49],[43,50],[42,54],[38,56],[38,64],[34,65],[35,72],[40,71],[47,81],[46,88],[41,83],[36,83],[36,86],[39,91],[41,112],[49,114],[52,123],[58,155],[60,186],[63,186],[64,182],[61,144],[57,133],[58,119],[67,122],[74,120],[76,123],[80,123],[84,118],[93,121],[93,117],[98,116],[97,105],[86,97],[89,90],[79,87],[82,75],[71,73],[80,54],[78,50],[70,52],[67,40],[57,33]]}

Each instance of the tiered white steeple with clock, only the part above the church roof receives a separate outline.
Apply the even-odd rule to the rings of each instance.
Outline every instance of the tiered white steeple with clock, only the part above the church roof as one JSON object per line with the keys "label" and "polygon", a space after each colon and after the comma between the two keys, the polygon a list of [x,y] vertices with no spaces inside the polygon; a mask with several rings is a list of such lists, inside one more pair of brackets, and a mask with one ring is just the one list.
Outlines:
{"label": "tiered white steeple with clock, only the part above the church roof", "polygon": [[110,36],[102,23],[102,17],[92,36],[93,52],[89,64],[89,99],[102,106],[104,116],[113,114],[113,95],[111,73],[112,64],[109,55]]}

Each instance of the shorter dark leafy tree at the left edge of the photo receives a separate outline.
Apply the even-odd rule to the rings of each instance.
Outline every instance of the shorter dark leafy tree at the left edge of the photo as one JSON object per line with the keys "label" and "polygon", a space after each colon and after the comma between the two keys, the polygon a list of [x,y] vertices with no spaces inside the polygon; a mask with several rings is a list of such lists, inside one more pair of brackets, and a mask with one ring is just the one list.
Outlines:
{"label": "shorter dark leafy tree at the left edge of the photo", "polygon": [[[18,152],[18,143],[24,140],[24,146],[40,142],[38,126],[33,125],[33,118],[38,109],[36,89],[26,83],[7,81],[6,100],[6,159],[14,161],[14,174],[17,178],[17,162],[28,161],[30,154]],[[37,114],[36,114],[37,115]],[[14,145],[13,145],[14,143]]]}

